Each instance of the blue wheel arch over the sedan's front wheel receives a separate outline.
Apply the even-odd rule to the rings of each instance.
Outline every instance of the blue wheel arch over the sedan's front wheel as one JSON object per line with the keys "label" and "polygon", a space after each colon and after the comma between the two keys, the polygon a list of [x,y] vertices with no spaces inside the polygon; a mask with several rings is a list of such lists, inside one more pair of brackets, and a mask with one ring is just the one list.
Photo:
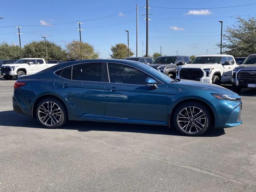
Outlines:
{"label": "blue wheel arch over the sedan's front wheel", "polygon": [[168,114],[168,126],[171,127],[172,125],[172,115],[174,113],[174,110],[176,108],[178,108],[178,106],[184,102],[189,102],[189,101],[196,101],[196,102],[199,102],[201,104],[203,104],[204,106],[206,106],[206,108],[209,110],[210,112],[210,116],[211,116],[211,126],[214,127],[215,125],[215,121],[216,121],[216,116],[214,115],[214,109],[212,106],[210,106],[207,102],[204,101],[204,99],[200,99],[200,98],[186,98],[186,99],[183,99],[183,100],[180,100],[178,101],[177,103],[174,104],[174,107],[172,108],[170,114]]}

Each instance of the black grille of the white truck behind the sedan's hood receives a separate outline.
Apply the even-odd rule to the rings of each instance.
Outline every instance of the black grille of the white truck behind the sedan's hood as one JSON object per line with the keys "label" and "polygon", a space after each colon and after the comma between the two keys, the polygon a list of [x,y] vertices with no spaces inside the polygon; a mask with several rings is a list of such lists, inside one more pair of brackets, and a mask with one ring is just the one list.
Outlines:
{"label": "black grille of the white truck behind the sedan's hood", "polygon": [[200,81],[200,78],[204,76],[204,72],[201,69],[180,69],[180,78]]}

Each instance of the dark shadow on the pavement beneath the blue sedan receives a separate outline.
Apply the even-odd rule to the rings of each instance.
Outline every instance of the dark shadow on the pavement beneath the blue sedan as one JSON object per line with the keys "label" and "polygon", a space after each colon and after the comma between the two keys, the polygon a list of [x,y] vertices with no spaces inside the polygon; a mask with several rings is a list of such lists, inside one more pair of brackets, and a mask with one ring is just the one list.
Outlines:
{"label": "dark shadow on the pavement beneath the blue sedan", "polygon": [[[24,127],[24,128],[44,128],[40,126],[36,119],[30,116],[17,114],[13,110],[0,112],[0,126]],[[138,132],[145,134],[162,134],[183,136],[176,129],[167,126],[139,125],[139,124],[121,124],[90,121],[68,121],[59,129],[88,131],[112,131],[112,132]],[[217,137],[225,134],[224,129],[210,129],[202,137]]]}

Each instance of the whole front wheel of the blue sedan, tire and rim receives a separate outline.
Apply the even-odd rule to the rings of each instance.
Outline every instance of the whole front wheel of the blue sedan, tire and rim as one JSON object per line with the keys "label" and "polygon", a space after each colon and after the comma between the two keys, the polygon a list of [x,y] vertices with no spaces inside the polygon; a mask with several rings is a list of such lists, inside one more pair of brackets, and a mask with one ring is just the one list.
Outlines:
{"label": "whole front wheel of the blue sedan, tire and rim", "polygon": [[200,102],[185,102],[174,110],[174,127],[186,136],[199,136],[210,128],[210,112]]}

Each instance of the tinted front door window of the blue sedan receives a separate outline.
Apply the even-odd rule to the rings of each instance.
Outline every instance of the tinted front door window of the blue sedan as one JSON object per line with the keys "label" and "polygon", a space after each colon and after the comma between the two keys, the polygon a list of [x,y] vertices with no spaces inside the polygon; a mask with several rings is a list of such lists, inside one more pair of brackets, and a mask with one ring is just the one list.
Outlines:
{"label": "tinted front door window of the blue sedan", "polygon": [[148,74],[128,65],[108,63],[110,83],[144,85]]}

